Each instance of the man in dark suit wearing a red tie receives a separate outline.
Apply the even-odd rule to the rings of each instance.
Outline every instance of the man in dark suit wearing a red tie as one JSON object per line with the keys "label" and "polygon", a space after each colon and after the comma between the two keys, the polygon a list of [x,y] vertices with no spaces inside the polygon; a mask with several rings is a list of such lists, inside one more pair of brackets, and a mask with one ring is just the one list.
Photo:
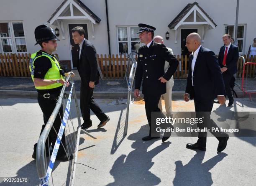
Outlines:
{"label": "man in dark suit wearing a red tie", "polygon": [[228,106],[231,106],[234,103],[234,98],[230,88],[230,81],[234,78],[233,74],[237,72],[236,65],[239,58],[239,50],[236,45],[231,44],[229,34],[223,35],[222,39],[224,46],[220,47],[218,60],[224,79],[225,94],[229,99]]}

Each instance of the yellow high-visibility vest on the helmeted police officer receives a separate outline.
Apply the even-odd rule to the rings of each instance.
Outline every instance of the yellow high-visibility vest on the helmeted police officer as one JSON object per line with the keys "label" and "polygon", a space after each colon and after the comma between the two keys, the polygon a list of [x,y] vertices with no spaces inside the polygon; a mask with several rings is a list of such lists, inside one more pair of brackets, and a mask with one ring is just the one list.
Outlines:
{"label": "yellow high-visibility vest on the helmeted police officer", "polygon": [[[31,59],[29,62],[29,70],[30,70],[30,74],[33,82],[34,82],[34,69],[35,69],[34,61],[41,56],[45,56],[49,58],[51,61],[51,68],[46,72],[44,79],[63,79],[62,75],[59,72],[61,68],[59,66],[58,60],[55,57],[51,56],[50,54],[47,54],[42,51],[37,51],[36,53],[31,54]],[[63,85],[61,83],[54,83],[54,84],[36,87],[36,89],[38,90],[54,89],[62,86]]]}

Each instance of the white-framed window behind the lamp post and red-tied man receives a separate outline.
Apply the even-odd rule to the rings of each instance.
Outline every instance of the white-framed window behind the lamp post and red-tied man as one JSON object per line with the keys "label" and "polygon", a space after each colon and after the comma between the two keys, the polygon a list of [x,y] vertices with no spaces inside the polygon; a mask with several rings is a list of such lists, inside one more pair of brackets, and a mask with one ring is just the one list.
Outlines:
{"label": "white-framed window behind the lamp post and red-tied man", "polygon": [[[225,33],[229,34],[231,38],[235,38],[235,25],[225,25]],[[244,46],[244,38],[245,38],[245,25],[238,25],[237,28],[237,43],[239,52],[243,53]]]}

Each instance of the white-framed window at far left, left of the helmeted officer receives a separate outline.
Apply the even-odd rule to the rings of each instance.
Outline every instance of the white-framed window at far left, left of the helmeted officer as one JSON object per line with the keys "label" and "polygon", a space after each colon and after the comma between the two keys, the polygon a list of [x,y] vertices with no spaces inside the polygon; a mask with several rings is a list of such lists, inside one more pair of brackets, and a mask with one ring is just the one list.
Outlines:
{"label": "white-framed window at far left, left of the helmeted officer", "polygon": [[0,22],[0,53],[27,52],[22,22]]}

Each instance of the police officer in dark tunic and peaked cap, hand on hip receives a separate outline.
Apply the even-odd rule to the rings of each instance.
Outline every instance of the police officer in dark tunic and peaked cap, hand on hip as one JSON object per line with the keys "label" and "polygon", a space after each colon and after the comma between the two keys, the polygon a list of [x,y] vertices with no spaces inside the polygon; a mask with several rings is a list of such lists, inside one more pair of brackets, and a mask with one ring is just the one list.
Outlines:
{"label": "police officer in dark tunic and peaked cap, hand on hip", "polygon": [[[153,41],[156,28],[146,24],[139,24],[138,26],[140,30],[137,33],[139,33],[141,43],[145,43],[145,45],[138,50],[134,96],[140,96],[139,89],[143,78],[142,93],[144,94],[149,135],[143,137],[142,140],[151,140],[159,138],[159,133],[155,131],[156,122],[151,123],[151,112],[157,112],[161,117],[164,117],[158,107],[158,103],[161,95],[166,93],[166,82],[176,71],[178,60],[168,51],[164,44]],[[170,64],[166,73],[164,72],[165,61]],[[162,141],[168,138],[169,135],[164,135]]]}

